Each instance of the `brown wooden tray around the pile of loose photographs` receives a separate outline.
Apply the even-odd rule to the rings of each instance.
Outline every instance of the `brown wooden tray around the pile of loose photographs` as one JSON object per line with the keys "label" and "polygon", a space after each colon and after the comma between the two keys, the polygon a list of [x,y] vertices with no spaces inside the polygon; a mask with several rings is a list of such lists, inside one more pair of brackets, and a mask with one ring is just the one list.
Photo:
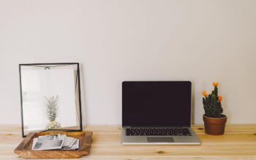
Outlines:
{"label": "brown wooden tray around the pile of loose photographs", "polygon": [[[39,135],[51,134],[65,134],[69,137],[79,139],[79,149],[75,151],[32,151],[33,138]],[[29,133],[26,138],[15,149],[15,153],[24,159],[75,159],[89,154],[91,148],[92,132],[62,132],[62,131],[48,131]]]}

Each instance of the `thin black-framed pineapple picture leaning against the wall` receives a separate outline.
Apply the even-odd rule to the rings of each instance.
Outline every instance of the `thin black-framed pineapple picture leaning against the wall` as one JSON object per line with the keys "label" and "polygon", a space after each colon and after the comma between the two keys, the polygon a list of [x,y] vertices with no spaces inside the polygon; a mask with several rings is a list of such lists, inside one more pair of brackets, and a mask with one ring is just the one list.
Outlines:
{"label": "thin black-framed pineapple picture leaning against the wall", "polygon": [[79,63],[20,64],[22,135],[81,131]]}

